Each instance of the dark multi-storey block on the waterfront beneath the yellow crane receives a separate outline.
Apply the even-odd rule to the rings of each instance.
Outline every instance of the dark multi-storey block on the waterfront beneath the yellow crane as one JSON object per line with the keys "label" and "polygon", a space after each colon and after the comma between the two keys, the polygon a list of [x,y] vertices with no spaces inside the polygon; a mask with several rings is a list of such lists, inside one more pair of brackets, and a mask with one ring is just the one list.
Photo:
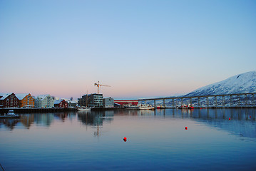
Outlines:
{"label": "dark multi-storey block on the waterfront beneath the yellow crane", "polygon": [[102,94],[86,94],[82,98],[78,98],[78,105],[103,108],[103,95]]}

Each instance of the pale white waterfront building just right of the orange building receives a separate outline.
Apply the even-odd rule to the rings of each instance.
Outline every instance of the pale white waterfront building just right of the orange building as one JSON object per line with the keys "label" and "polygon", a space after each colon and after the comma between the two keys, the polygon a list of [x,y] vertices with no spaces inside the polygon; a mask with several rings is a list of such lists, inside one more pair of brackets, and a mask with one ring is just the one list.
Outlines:
{"label": "pale white waterfront building just right of the orange building", "polygon": [[53,108],[54,100],[51,95],[39,95],[35,100],[36,108]]}

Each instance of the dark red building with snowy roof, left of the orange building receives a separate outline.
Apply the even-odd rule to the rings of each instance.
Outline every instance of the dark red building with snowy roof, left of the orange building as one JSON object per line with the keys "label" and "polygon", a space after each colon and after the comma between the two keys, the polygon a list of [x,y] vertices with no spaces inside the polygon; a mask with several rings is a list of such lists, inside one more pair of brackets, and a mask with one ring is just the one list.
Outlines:
{"label": "dark red building with snowy roof, left of the orange building", "polygon": [[1,93],[0,108],[19,108],[19,99],[14,93]]}

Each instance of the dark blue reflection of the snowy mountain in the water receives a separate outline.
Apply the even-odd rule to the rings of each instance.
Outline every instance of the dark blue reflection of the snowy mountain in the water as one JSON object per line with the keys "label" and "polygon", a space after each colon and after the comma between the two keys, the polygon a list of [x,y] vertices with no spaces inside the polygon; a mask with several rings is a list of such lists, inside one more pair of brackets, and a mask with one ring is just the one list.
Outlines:
{"label": "dark blue reflection of the snowy mountain in the water", "polygon": [[[225,130],[232,135],[256,138],[255,111],[255,109],[171,109],[167,115],[171,115],[172,118],[189,118],[210,128]],[[156,115],[165,115],[165,113],[159,111]]]}

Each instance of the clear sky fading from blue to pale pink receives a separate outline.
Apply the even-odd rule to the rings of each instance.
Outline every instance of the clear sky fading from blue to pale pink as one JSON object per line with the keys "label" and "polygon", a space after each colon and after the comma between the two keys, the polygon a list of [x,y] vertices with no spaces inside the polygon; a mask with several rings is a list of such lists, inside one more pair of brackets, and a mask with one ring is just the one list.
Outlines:
{"label": "clear sky fading from blue to pale pink", "polygon": [[254,0],[0,0],[0,93],[163,97],[255,63]]}

